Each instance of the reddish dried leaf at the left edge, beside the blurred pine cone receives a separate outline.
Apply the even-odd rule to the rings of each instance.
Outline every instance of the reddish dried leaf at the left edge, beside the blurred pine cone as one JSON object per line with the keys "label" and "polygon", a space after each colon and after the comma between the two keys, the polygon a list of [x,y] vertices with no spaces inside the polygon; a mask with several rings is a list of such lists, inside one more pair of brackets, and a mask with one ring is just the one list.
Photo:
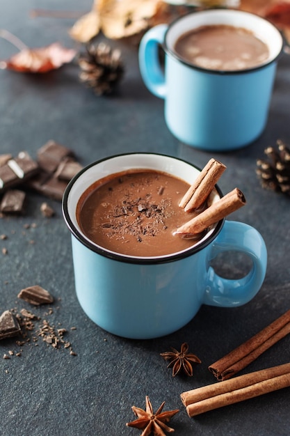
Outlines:
{"label": "reddish dried leaf at the left edge, beside the blurred pine cone", "polygon": [[18,72],[48,72],[60,68],[64,63],[70,63],[76,51],[67,49],[58,42],[37,49],[23,49],[7,61],[1,63],[1,68]]}

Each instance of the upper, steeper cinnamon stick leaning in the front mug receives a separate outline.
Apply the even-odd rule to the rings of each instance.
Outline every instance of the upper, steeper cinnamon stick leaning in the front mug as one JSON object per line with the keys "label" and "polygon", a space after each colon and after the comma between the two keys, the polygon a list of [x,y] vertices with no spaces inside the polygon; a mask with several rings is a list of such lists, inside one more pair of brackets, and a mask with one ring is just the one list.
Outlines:
{"label": "upper, steeper cinnamon stick leaning in the front mug", "polygon": [[225,169],[226,166],[224,164],[218,162],[216,159],[210,159],[200,172],[198,178],[195,179],[186,194],[182,197],[179,203],[180,208],[184,208],[186,212],[200,208],[214,189],[216,182]]}

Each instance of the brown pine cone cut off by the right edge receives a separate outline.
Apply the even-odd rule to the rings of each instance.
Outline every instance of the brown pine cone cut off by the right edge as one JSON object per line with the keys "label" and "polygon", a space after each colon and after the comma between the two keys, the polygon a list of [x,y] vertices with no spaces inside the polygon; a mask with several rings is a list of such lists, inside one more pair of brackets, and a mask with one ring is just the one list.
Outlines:
{"label": "brown pine cone cut off by the right edge", "polygon": [[261,178],[261,186],[273,191],[290,195],[290,149],[278,139],[277,148],[264,150],[270,162],[257,160],[257,175]]}

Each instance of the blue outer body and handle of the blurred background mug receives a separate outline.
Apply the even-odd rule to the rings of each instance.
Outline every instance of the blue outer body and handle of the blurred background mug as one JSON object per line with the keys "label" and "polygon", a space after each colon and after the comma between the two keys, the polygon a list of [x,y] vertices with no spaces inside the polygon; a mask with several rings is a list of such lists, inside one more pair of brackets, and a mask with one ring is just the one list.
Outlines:
{"label": "blue outer body and handle of the blurred background mug", "polygon": [[263,132],[275,79],[276,62],[241,72],[209,72],[166,53],[158,57],[168,26],[150,29],[140,43],[143,81],[164,98],[166,124],[184,143],[203,150],[227,151],[251,143]]}

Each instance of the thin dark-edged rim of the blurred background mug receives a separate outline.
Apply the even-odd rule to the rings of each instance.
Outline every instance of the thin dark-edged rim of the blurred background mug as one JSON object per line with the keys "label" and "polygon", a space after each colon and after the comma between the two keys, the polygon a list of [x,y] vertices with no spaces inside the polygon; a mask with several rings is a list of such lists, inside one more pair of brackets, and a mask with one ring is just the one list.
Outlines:
{"label": "thin dark-edged rim of the blurred background mug", "polygon": [[[214,68],[204,68],[204,67],[201,67],[199,65],[194,65],[193,63],[190,63],[190,62],[186,61],[185,59],[183,59],[181,56],[179,56],[179,54],[177,54],[177,52],[175,52],[175,50],[168,47],[168,44],[166,42],[167,37],[168,37],[168,33],[175,26],[175,24],[177,24],[177,22],[186,19],[186,17],[188,17],[190,15],[196,15],[196,14],[214,15],[216,13],[218,13],[220,15],[225,14],[225,13],[234,13],[235,15],[236,14],[248,15],[248,16],[252,16],[252,17],[257,17],[257,19],[261,20],[262,22],[266,22],[269,26],[271,26],[273,29],[275,29],[275,31],[277,31],[277,35],[280,35],[280,38],[281,38],[280,50],[277,52],[276,56],[273,56],[271,59],[268,59],[264,63],[261,63],[259,65],[254,66],[254,67],[251,67],[251,68],[244,68],[242,70],[215,70]],[[218,24],[218,23],[216,23],[216,24]],[[223,23],[221,22],[219,24],[223,24]],[[200,24],[200,25],[205,25],[205,24]],[[245,26],[245,29],[247,29],[246,26]],[[184,33],[184,32],[182,32],[182,33]],[[255,35],[255,33],[254,33],[254,35]],[[168,29],[166,30],[164,42],[163,42],[163,49],[166,53],[170,54],[172,57],[177,59],[179,62],[184,63],[184,65],[187,65],[190,68],[193,68],[193,70],[200,70],[202,72],[207,72],[207,73],[217,74],[217,75],[240,75],[240,74],[245,74],[245,73],[261,70],[262,68],[265,68],[266,66],[271,65],[271,63],[276,62],[283,53],[284,45],[285,45],[285,39],[284,39],[284,36],[282,35],[281,31],[279,29],[277,29],[277,26],[275,26],[275,24],[266,20],[266,18],[260,17],[259,15],[255,14],[255,13],[250,13],[250,12],[247,12],[245,10],[236,10],[236,9],[231,9],[231,8],[227,8],[227,9],[214,8],[214,9],[208,9],[208,10],[193,10],[192,12],[187,13],[185,15],[182,15],[181,17],[177,17],[175,20],[173,20],[170,23],[170,25],[168,26]]]}

